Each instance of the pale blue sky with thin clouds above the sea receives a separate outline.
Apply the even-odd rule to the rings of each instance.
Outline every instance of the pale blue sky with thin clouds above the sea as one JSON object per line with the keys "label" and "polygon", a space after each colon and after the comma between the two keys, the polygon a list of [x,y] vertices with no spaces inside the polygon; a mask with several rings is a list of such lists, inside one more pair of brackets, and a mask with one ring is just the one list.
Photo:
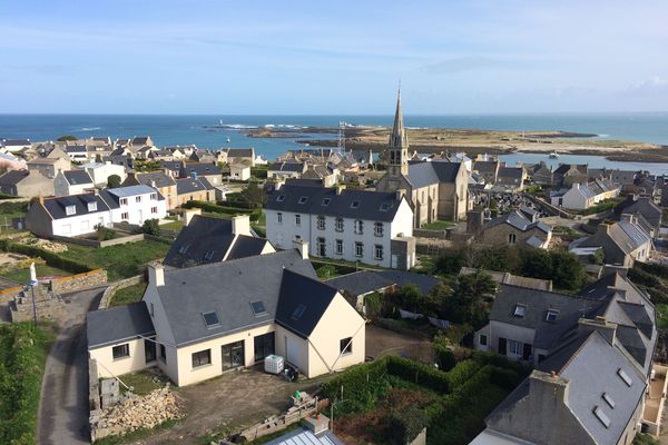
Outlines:
{"label": "pale blue sky with thin clouds above the sea", "polygon": [[2,1],[0,112],[668,110],[666,1]]}

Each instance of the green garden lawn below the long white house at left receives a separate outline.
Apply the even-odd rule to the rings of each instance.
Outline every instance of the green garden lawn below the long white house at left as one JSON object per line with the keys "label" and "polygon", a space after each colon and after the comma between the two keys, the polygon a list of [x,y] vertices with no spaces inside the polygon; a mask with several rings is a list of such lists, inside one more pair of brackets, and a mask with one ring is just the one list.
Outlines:
{"label": "green garden lawn below the long white house at left", "polygon": [[102,248],[72,244],[67,247],[60,256],[91,268],[107,269],[109,281],[141,274],[148,261],[165,257],[169,250],[169,245],[148,239]]}

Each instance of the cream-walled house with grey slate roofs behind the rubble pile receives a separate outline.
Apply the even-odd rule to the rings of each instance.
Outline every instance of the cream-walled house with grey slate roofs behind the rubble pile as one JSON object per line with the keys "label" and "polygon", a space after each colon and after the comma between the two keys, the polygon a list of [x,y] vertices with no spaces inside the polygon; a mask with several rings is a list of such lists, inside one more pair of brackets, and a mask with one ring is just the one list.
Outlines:
{"label": "cream-walled house with grey slate roofs behind the rubble pile", "polygon": [[154,264],[141,301],[88,314],[88,354],[99,377],[157,366],[178,386],[272,354],[311,378],[363,363],[365,324],[304,251]]}

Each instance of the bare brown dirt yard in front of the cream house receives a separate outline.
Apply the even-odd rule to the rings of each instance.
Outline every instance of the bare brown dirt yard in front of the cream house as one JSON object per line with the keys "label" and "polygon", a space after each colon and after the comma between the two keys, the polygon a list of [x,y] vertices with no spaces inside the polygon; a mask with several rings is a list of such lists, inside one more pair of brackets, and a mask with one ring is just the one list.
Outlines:
{"label": "bare brown dirt yard in front of the cream house", "polygon": [[238,432],[273,414],[285,412],[289,396],[296,389],[312,393],[323,379],[288,383],[281,376],[261,369],[244,369],[176,393],[187,417],[173,428],[165,429],[135,444],[191,444],[199,436],[220,431]]}

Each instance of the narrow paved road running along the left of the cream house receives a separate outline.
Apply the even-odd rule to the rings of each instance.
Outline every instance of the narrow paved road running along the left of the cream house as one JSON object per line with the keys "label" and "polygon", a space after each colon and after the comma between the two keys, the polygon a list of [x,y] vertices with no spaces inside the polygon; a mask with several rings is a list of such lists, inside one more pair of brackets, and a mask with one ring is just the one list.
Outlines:
{"label": "narrow paved road running along the left of the cream house", "polygon": [[104,288],[63,295],[68,317],[47,358],[37,423],[39,445],[89,444],[86,313]]}

